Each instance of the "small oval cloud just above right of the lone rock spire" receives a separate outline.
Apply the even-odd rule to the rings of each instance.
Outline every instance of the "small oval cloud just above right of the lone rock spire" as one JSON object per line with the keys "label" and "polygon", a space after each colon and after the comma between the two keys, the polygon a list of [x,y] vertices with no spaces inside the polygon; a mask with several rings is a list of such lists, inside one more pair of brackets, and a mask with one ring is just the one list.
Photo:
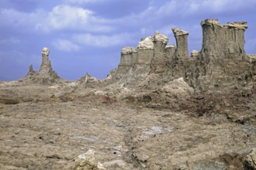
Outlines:
{"label": "small oval cloud just above right of the lone rock spire", "polygon": [[78,45],[74,44],[74,42],[68,41],[67,39],[55,39],[54,42],[52,42],[52,45],[56,49],[64,52],[72,52],[80,49]]}

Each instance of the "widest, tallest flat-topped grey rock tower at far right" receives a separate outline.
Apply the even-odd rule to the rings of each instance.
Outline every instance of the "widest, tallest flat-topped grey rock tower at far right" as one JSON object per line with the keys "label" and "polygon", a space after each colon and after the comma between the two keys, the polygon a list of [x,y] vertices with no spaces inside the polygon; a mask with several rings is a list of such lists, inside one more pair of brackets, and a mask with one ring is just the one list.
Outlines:
{"label": "widest, tallest flat-topped grey rock tower at far right", "polygon": [[247,22],[228,22],[206,19],[202,26],[202,56],[210,58],[242,59],[245,57],[244,32]]}

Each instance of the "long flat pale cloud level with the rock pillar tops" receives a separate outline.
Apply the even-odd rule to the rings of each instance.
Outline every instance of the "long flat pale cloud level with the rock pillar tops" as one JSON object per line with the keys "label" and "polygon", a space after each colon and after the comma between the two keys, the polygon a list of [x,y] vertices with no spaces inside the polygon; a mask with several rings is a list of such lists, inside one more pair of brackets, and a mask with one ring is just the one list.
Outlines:
{"label": "long flat pale cloud level with the rock pillar tops", "polygon": [[79,34],[73,37],[74,40],[85,44],[88,46],[99,46],[99,47],[109,47],[122,45],[132,42],[131,35],[128,33],[115,34],[112,36],[94,36],[92,34]]}

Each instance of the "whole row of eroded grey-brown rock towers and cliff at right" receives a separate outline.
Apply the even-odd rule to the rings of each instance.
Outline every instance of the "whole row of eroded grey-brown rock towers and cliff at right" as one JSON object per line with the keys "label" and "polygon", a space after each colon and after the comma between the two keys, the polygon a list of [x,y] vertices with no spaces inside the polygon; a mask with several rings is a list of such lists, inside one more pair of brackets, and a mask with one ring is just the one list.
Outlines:
{"label": "whole row of eroded grey-brown rock towers and cliff at right", "polygon": [[199,52],[193,50],[189,56],[189,32],[172,29],[176,47],[167,46],[168,37],[156,32],[153,37],[142,39],[136,49],[122,49],[114,77],[125,77],[130,70],[131,84],[157,73],[161,78],[156,84],[183,77],[196,91],[243,87],[256,74],[253,57],[246,56],[244,51],[247,22],[221,25],[217,19],[206,19],[201,26],[203,38]]}

